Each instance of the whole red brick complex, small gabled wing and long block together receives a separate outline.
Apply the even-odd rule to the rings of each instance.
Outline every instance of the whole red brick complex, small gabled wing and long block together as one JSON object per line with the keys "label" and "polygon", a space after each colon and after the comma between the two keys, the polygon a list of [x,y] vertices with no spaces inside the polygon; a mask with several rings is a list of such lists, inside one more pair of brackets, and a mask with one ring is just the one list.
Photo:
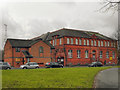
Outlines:
{"label": "whole red brick complex, small gabled wing and long block together", "polygon": [[94,61],[116,64],[116,47],[116,40],[100,33],[63,28],[31,40],[8,39],[4,61],[15,67],[27,61],[40,65],[52,61],[64,66],[86,65]]}

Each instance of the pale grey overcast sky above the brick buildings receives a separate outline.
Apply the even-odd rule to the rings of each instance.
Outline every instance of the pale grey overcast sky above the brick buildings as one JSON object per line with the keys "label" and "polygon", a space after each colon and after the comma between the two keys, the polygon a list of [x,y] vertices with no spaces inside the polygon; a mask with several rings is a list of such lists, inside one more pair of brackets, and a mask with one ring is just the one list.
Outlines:
{"label": "pale grey overcast sky above the brick buildings", "polygon": [[117,30],[117,12],[97,11],[102,7],[100,2],[73,1],[1,3],[0,21],[8,26],[8,38],[29,39],[61,28],[97,31],[107,36]]}

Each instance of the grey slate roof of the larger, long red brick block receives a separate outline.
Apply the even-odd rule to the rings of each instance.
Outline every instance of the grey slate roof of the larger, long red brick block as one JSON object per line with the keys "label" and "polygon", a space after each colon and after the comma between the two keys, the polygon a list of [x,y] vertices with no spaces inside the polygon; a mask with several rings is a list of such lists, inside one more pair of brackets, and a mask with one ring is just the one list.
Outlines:
{"label": "grey slate roof of the larger, long red brick block", "polygon": [[[80,38],[92,38],[93,35],[95,35],[97,38],[96,39],[105,39],[105,40],[115,40],[112,38],[109,38],[105,35],[102,35],[98,32],[91,32],[91,31],[83,31],[83,30],[74,30],[74,29],[60,29],[51,33],[46,33],[41,35],[40,37],[37,38],[42,38],[44,40],[52,40],[52,37],[57,35],[58,38],[63,37],[63,36],[70,36],[70,37],[80,37]],[[43,38],[45,37],[45,38]]]}

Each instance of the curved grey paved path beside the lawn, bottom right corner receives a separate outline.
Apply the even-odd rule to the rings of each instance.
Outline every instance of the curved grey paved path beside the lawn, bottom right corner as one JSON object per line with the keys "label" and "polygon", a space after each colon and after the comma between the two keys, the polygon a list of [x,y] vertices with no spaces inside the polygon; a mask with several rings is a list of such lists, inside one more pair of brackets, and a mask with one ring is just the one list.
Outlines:
{"label": "curved grey paved path beside the lawn, bottom right corner", "polygon": [[[118,74],[119,73],[119,74]],[[118,78],[119,77],[119,78]],[[120,89],[120,68],[110,68],[101,71],[95,78],[95,88],[118,88]]]}

